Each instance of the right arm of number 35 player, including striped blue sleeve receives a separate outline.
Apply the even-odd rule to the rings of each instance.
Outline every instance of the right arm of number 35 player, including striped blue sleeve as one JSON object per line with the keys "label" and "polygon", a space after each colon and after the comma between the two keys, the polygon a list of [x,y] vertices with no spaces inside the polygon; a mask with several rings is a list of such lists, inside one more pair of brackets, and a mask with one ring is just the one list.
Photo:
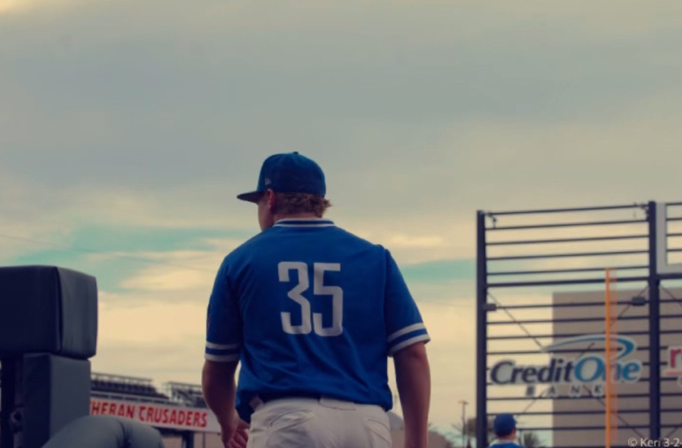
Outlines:
{"label": "right arm of number 35 player, including striped blue sleeve", "polygon": [[386,329],[405,424],[405,448],[427,448],[431,373],[430,337],[395,260],[386,251]]}

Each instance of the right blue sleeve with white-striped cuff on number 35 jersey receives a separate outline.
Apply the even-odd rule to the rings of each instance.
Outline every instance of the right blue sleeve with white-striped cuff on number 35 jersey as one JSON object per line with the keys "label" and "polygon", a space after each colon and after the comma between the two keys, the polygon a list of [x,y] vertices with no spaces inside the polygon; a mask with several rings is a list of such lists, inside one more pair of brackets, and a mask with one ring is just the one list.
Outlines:
{"label": "right blue sleeve with white-striped cuff on number 35 jersey", "polygon": [[392,255],[386,250],[386,342],[388,355],[417,342],[429,342],[431,337],[422,321],[402,273]]}

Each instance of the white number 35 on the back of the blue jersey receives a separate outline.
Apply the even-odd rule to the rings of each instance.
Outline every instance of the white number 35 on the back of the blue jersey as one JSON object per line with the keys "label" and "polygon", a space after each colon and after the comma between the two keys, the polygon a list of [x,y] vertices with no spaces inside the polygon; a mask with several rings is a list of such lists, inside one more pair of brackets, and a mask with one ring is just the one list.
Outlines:
{"label": "white number 35 on the back of the blue jersey", "polygon": [[[310,302],[303,297],[303,292],[310,288],[308,278],[308,264],[303,262],[280,262],[278,264],[280,282],[290,282],[290,271],[298,271],[299,283],[290,289],[287,296],[292,301],[301,305],[301,325],[292,325],[292,316],[289,312],[283,312],[282,328],[290,335],[308,335],[313,330],[319,336],[338,336],[343,333],[343,290],[338,286],[324,285],[324,273],[326,271],[341,271],[339,263],[314,263],[312,265],[312,294],[315,296],[331,296],[332,325],[322,325],[322,313],[311,313]],[[322,298],[321,298],[322,299]]]}

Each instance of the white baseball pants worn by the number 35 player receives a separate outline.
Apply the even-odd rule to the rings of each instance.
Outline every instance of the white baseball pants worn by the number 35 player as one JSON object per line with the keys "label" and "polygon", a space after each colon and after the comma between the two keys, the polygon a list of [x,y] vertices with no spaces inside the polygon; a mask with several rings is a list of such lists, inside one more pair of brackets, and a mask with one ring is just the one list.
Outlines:
{"label": "white baseball pants worn by the number 35 player", "polygon": [[380,406],[335,399],[286,398],[255,408],[247,448],[391,448]]}

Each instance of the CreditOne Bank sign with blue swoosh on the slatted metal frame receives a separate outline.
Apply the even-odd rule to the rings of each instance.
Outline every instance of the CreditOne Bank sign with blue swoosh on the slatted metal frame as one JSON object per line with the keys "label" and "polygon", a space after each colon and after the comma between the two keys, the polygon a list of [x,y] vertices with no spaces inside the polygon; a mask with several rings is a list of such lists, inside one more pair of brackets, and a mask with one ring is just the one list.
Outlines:
{"label": "CreditOne Bank sign with blue swoosh on the slatted metal frame", "polygon": [[[585,347],[589,343],[604,343],[605,339],[603,334],[571,337],[544,347],[542,352],[551,353],[571,346]],[[642,376],[642,361],[631,358],[637,344],[624,336],[614,336],[612,340],[617,344],[611,363],[613,381],[636,383]],[[593,396],[601,397],[605,394],[606,361],[597,353],[586,353],[577,358],[553,356],[543,365],[519,365],[515,360],[502,360],[491,367],[490,380],[495,385],[526,385],[529,391],[534,390],[534,385],[549,385],[548,397],[557,396],[557,385],[569,385],[571,397],[582,396],[585,387],[589,386]],[[528,394],[531,395],[530,392]]]}

